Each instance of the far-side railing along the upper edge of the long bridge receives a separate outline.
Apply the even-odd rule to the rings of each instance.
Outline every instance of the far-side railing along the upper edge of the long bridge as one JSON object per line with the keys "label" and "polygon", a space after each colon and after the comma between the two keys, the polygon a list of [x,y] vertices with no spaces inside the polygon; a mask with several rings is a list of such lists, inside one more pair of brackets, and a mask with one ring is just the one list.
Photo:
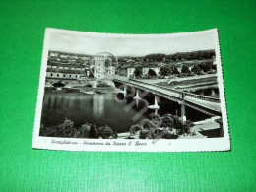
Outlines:
{"label": "far-side railing along the upper edge of the long bridge", "polygon": [[199,95],[192,94],[192,93],[189,93],[189,92],[182,92],[182,91],[178,91],[178,90],[175,90],[175,89],[172,89],[172,88],[166,88],[166,87],[160,86],[160,85],[153,85],[153,84],[150,84],[150,83],[147,83],[147,82],[141,82],[141,81],[138,81],[138,80],[135,80],[135,79],[132,79],[132,78],[130,78],[129,81],[125,81],[125,80],[119,80],[119,81],[126,82],[126,83],[134,83],[138,86],[140,86],[140,84],[155,86],[155,87],[161,88],[163,90],[174,92],[176,94],[181,95],[183,93],[184,96],[191,96],[191,97],[202,99],[202,100],[207,100],[207,101],[211,101],[211,102],[219,102],[220,103],[220,98],[211,97],[211,96],[199,96]]}

